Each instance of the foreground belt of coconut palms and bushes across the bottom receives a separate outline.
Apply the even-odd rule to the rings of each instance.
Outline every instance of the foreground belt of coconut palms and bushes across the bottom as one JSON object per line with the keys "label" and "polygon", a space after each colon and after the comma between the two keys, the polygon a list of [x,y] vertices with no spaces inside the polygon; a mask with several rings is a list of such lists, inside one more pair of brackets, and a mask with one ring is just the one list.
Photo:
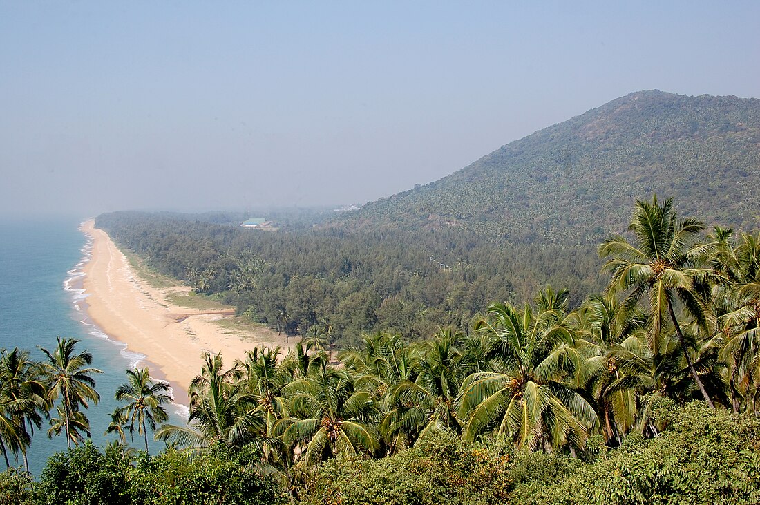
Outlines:
{"label": "foreground belt of coconut palms and bushes across the bottom", "polygon": [[[365,333],[340,366],[318,332],[284,357],[208,354],[187,426],[128,371],[119,440],[53,456],[39,482],[9,470],[0,500],[758,503],[760,232],[705,229],[654,198],[598,253],[606,287],[575,308],[547,287],[490,303],[466,333]],[[43,363],[2,352],[7,458],[51,410],[50,434],[79,446],[97,371],[76,343]],[[154,427],[166,451],[135,454],[127,440]]]}

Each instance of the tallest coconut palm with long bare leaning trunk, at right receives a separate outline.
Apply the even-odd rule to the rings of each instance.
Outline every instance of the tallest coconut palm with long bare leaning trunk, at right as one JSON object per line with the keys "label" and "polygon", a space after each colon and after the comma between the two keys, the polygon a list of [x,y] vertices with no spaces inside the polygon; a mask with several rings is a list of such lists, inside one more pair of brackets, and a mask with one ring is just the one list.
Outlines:
{"label": "tallest coconut palm with long bare leaning trunk, at right", "polygon": [[699,378],[686,343],[674,302],[691,316],[698,327],[708,331],[705,308],[705,282],[713,276],[710,268],[701,267],[715,250],[714,242],[699,244],[698,234],[705,225],[696,219],[677,219],[673,198],[662,204],[653,197],[651,202],[636,200],[629,226],[633,241],[614,235],[599,247],[606,260],[603,269],[612,273],[608,290],[626,294],[622,306],[632,310],[644,299],[649,315],[649,343],[657,354],[667,320],[673,324],[683,356],[705,402],[714,409],[712,399]]}

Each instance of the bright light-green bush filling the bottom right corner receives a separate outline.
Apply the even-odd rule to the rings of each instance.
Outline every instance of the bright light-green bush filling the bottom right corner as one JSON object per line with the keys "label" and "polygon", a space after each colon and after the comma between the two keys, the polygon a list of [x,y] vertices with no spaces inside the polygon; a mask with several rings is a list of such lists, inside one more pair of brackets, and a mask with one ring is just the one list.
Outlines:
{"label": "bright light-green bush filling the bottom right corner", "polygon": [[510,503],[758,503],[756,418],[711,411],[700,402],[670,404],[657,417],[668,424],[659,437],[631,437],[592,464],[556,466],[543,482],[527,478]]}

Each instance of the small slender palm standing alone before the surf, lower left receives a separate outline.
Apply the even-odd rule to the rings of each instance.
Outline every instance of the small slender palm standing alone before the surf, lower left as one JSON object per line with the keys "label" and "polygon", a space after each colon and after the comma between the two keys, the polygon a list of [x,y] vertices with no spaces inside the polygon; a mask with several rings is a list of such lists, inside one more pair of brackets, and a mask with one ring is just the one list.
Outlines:
{"label": "small slender palm standing alone before the surf, lower left", "polygon": [[128,402],[122,407],[122,412],[128,416],[132,430],[137,423],[138,434],[144,438],[147,453],[147,427],[155,430],[157,423],[169,418],[163,407],[174,400],[169,394],[169,385],[162,380],[153,380],[147,368],[128,370],[127,382],[119,385],[114,398],[118,402]]}

